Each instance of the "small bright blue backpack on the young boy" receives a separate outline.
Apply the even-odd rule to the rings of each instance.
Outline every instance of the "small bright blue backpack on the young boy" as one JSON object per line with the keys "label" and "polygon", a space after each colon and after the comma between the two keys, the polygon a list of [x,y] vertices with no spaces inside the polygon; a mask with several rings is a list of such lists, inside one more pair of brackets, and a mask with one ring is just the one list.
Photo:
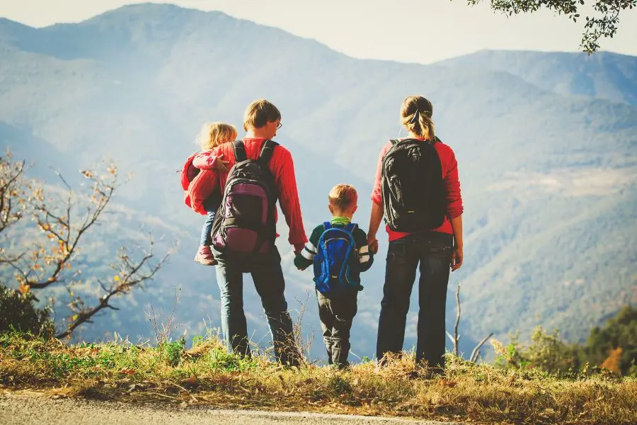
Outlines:
{"label": "small bright blue backpack on the young boy", "polygon": [[352,233],[358,227],[351,223],[345,227],[332,227],[324,222],[325,230],[319,238],[314,257],[314,283],[322,294],[357,290],[360,281],[350,276],[352,259],[358,253]]}

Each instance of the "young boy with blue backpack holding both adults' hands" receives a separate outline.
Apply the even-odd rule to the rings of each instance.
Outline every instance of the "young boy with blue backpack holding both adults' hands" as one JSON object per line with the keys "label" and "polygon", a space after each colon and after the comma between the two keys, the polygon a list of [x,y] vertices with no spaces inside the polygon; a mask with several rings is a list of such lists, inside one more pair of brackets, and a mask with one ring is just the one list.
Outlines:
{"label": "young boy with blue backpack holding both adults' hands", "polygon": [[354,186],[338,184],[329,194],[328,208],[332,220],[317,226],[309,242],[294,259],[294,266],[305,270],[314,263],[314,283],[319,299],[319,319],[328,363],[338,368],[348,366],[350,329],[356,314],[360,272],[374,261],[367,247],[367,234],[352,216],[358,195]]}

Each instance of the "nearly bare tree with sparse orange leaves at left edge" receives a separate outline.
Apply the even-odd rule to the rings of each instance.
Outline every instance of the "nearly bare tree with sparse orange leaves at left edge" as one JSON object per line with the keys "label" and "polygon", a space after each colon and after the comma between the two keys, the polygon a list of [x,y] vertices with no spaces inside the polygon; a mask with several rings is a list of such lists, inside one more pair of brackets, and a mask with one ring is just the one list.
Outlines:
{"label": "nearly bare tree with sparse orange leaves at left edge", "polygon": [[[81,270],[71,271],[72,262],[84,240],[84,235],[95,225],[107,208],[118,188],[117,167],[107,165],[107,173],[96,175],[93,171],[84,170],[81,174],[91,182],[90,189],[74,193],[62,174],[56,171],[65,195],[59,201],[45,203],[40,186],[35,186],[24,179],[26,169],[24,162],[12,162],[11,154],[0,157],[0,233],[6,227],[20,220],[25,212],[33,213],[35,224],[44,234],[45,241],[38,242],[33,248],[20,246],[22,251],[10,256],[4,247],[0,247],[0,266],[10,266],[15,272],[18,290],[25,294],[33,290],[42,290],[50,285],[67,286],[69,293],[69,309],[71,317],[67,329],[57,335],[68,337],[81,324],[93,323],[93,318],[100,312],[119,310],[113,305],[113,297],[129,293],[133,288],[144,287],[144,282],[152,280],[163,263],[168,259],[168,251],[159,261],[154,253],[155,242],[149,235],[149,251],[141,259],[134,260],[125,247],[120,249],[117,264],[113,266],[117,274],[112,282],[97,279],[103,293],[97,302],[91,304],[84,297],[76,295],[73,285],[81,283],[76,280]],[[78,208],[84,212],[77,214]]]}

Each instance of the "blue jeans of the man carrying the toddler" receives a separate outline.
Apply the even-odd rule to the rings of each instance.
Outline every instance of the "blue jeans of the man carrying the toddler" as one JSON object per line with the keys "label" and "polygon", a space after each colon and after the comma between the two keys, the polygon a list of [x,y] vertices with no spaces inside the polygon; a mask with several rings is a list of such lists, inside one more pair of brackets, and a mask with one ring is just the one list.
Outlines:
{"label": "blue jeans of the man carrying the toddler", "polygon": [[269,254],[223,254],[212,249],[217,263],[217,283],[221,291],[222,331],[226,346],[234,353],[250,356],[246,314],[243,312],[243,273],[251,273],[270,324],[275,356],[283,364],[297,365],[292,341],[292,319],[283,291],[285,280],[281,256],[274,247]]}

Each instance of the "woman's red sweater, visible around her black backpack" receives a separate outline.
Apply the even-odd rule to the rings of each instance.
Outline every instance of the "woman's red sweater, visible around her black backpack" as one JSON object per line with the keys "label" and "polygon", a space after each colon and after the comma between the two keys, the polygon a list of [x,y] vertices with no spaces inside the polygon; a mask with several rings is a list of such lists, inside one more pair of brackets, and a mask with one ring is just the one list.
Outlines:
{"label": "woman's red sweater, visible around her black backpack", "polygon": [[[456,161],[456,156],[454,155],[454,151],[452,150],[452,148],[444,145],[444,143],[442,142],[437,142],[434,146],[436,148],[436,151],[438,152],[438,156],[440,157],[440,164],[442,165],[442,179],[444,179],[444,184],[445,186],[447,186],[447,200],[449,201],[449,206],[447,207],[447,216],[455,218],[461,215],[463,211],[462,197],[460,196],[460,181],[458,180],[458,162]],[[377,203],[377,205],[383,205],[381,172],[383,158],[390,148],[391,142],[387,142],[383,149],[381,149],[381,153],[378,158],[376,181],[374,181],[374,190],[372,191],[372,201],[374,201],[374,203]],[[386,227],[386,229],[387,233],[389,233],[389,242],[400,239],[401,237],[406,237],[409,234],[404,232],[394,232],[393,230],[389,229],[389,227]],[[453,229],[451,226],[451,222],[449,222],[449,218],[444,217],[442,226],[438,227],[437,229],[433,229],[433,231],[453,234]]]}

